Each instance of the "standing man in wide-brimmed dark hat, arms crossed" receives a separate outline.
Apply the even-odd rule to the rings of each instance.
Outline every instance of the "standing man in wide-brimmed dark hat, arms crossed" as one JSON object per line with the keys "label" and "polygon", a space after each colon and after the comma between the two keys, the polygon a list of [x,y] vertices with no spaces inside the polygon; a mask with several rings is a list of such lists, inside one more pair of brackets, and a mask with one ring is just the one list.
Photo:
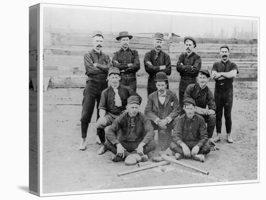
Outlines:
{"label": "standing man in wide-brimmed dark hat, arms crossed", "polygon": [[129,35],[127,31],[119,33],[119,36],[116,39],[120,42],[121,49],[114,53],[112,62],[113,66],[120,70],[120,84],[123,86],[129,86],[136,91],[136,72],[140,69],[140,63],[138,52],[129,48],[129,40],[132,38],[133,36]]}

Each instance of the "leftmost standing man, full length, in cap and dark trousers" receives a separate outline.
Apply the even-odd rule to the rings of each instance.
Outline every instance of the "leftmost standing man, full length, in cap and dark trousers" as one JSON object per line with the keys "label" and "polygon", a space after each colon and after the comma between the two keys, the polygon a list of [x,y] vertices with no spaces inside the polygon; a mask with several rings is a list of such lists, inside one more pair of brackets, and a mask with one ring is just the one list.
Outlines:
{"label": "leftmost standing man, full length, in cap and dark trousers", "polygon": [[[84,65],[86,75],[86,87],[83,92],[82,112],[81,112],[81,136],[82,141],[79,150],[86,149],[86,137],[91,116],[94,111],[95,101],[97,101],[97,119],[99,118],[98,106],[101,99],[101,93],[108,85],[106,77],[109,68],[112,67],[111,60],[108,55],[102,52],[103,33],[96,30],[92,33],[93,49],[84,55]],[[103,142],[104,135],[100,129],[97,129],[97,141]]]}

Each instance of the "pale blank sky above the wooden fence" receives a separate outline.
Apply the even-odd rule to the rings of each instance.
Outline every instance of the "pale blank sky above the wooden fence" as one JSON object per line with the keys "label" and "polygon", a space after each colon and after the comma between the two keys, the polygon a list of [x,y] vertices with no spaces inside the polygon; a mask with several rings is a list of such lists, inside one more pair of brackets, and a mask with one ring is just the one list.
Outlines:
{"label": "pale blank sky above the wooden fence", "polygon": [[82,29],[93,31],[130,33],[169,32],[184,37],[202,37],[205,33],[218,35],[224,29],[231,36],[234,28],[239,31],[258,29],[258,18],[226,15],[164,13],[155,11],[133,11],[110,9],[79,8],[44,8],[44,28]]}

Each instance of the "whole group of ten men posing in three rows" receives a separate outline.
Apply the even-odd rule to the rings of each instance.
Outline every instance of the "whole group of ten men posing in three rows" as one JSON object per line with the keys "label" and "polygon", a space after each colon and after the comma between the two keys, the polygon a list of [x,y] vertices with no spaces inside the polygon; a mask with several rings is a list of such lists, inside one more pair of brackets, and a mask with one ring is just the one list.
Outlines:
{"label": "whole group of ten men posing in three rows", "polygon": [[[142,98],[136,93],[136,72],[140,69],[140,61],[138,52],[129,47],[132,38],[127,31],[119,33],[116,39],[121,48],[111,60],[102,52],[103,33],[94,31],[92,34],[93,49],[84,55],[88,78],[82,102],[79,150],[86,149],[95,101],[97,143],[101,144],[98,154],[109,150],[114,153],[113,161],[124,160],[133,153],[147,161],[147,154],[156,148],[154,130],[167,128],[173,129],[173,141],[169,147],[177,159],[193,157],[203,161],[204,155],[216,150],[215,143],[221,140],[223,109],[227,142],[233,143],[232,83],[238,70],[229,60],[229,46],[221,46],[222,60],[213,64],[210,74],[201,69],[201,57],[193,52],[195,39],[184,38],[186,53],[177,61],[180,73],[178,100],[177,94],[169,90],[167,75],[171,74],[172,65],[169,55],[162,51],[163,34],[155,33],[154,49],[144,57],[149,76],[148,102],[143,114],[139,111]],[[210,76],[215,80],[214,95],[207,87]],[[217,137],[213,139],[215,126]]]}

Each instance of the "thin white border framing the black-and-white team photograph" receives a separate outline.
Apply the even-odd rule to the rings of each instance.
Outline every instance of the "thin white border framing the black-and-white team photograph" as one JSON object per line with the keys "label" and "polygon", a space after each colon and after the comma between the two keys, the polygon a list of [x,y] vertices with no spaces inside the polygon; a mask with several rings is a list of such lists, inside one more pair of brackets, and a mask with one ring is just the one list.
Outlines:
{"label": "thin white border framing the black-and-white team photograph", "polygon": [[[43,55],[43,12],[44,7],[56,7],[56,8],[71,8],[71,9],[88,9],[88,10],[107,10],[107,11],[123,11],[123,12],[136,12],[136,13],[154,13],[154,14],[171,14],[171,15],[189,15],[189,16],[201,16],[204,17],[217,17],[217,18],[241,18],[241,19],[250,19],[257,20],[258,22],[258,34],[259,34],[259,26],[260,20],[259,17],[256,16],[235,16],[235,15],[222,15],[222,14],[198,14],[198,13],[188,13],[188,12],[177,12],[177,11],[155,11],[155,10],[140,10],[140,9],[127,9],[127,8],[110,8],[110,7],[94,7],[88,5],[64,5],[64,4],[50,4],[50,3],[40,3],[40,55]],[[260,35],[258,37],[258,49]],[[258,74],[259,73],[259,53],[258,50]],[[43,56],[39,57],[43,58]],[[43,59],[38,59],[42,60]],[[43,62],[40,62],[40,74],[43,74]],[[43,83],[43,76],[40,76],[40,83]],[[75,194],[95,194],[95,193],[108,193],[108,192],[125,192],[125,191],[141,191],[141,190],[154,190],[154,189],[170,189],[170,188],[183,188],[183,187],[196,187],[196,186],[223,186],[223,185],[233,185],[233,184],[250,184],[250,183],[259,183],[259,172],[260,172],[260,143],[259,143],[259,76],[258,76],[258,123],[257,123],[257,180],[247,180],[247,181],[229,181],[229,182],[218,182],[218,183],[203,183],[203,184],[186,184],[186,185],[175,185],[175,186],[150,186],[150,187],[136,187],[136,188],[120,188],[120,189],[108,189],[108,190],[88,190],[88,191],[74,191],[74,192],[58,192],[58,193],[43,193],[43,85],[39,85],[38,88],[40,92],[40,197],[48,197],[48,196],[60,196],[60,195],[75,195]],[[41,90],[42,89],[42,90]],[[39,91],[38,90],[38,91]],[[207,196],[206,196],[207,198]],[[210,197],[209,197],[210,198]],[[214,197],[215,198],[215,197]]]}

